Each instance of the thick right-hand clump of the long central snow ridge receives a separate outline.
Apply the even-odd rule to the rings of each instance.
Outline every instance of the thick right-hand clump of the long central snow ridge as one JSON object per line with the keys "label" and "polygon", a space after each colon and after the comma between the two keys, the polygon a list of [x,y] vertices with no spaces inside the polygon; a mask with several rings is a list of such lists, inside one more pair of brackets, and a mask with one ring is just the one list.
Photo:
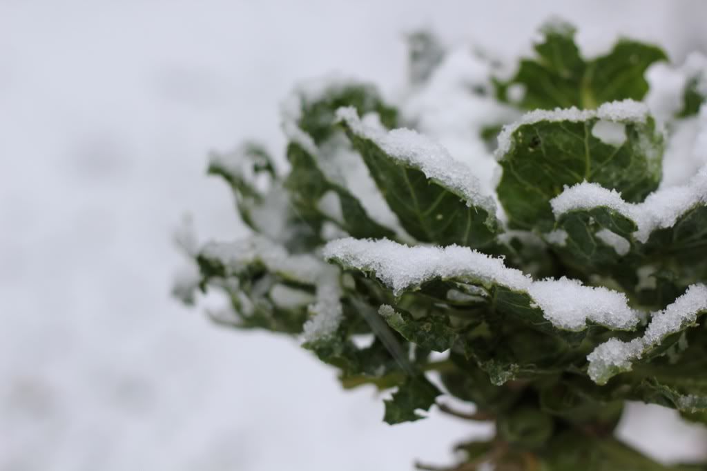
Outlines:
{"label": "thick right-hand clump of the long central snow ridge", "polygon": [[623,293],[605,287],[584,286],[578,280],[534,281],[527,290],[554,326],[579,330],[593,321],[617,329],[636,327],[638,315]]}

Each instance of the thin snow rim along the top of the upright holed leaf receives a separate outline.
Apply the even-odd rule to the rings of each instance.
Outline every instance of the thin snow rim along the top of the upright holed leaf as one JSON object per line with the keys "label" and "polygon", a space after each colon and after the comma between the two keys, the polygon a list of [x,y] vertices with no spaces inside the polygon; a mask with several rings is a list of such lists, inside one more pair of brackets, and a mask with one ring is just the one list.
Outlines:
{"label": "thin snow rim along the top of the upright holed leaf", "polygon": [[580,122],[589,119],[600,119],[603,121],[620,123],[645,123],[648,117],[648,107],[641,102],[633,100],[623,100],[604,103],[599,109],[578,109],[556,108],[554,110],[535,109],[532,112],[523,114],[515,123],[503,126],[503,130],[498,135],[498,149],[496,149],[496,159],[503,160],[503,157],[510,150],[513,133],[526,124],[535,124],[541,121],[571,121]]}

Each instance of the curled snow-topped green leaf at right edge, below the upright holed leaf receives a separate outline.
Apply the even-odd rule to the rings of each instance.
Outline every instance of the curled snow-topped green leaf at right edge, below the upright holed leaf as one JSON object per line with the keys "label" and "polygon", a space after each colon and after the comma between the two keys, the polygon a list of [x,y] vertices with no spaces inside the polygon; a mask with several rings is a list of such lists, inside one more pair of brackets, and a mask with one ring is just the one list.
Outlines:
{"label": "curled snow-topped green leaf at right edge, below the upright holed leaf", "polygon": [[671,292],[677,294],[679,288],[706,278],[703,180],[704,175],[698,174],[689,184],[661,189],[634,205],[597,186],[580,184],[568,189],[552,202],[556,208],[583,196],[588,203],[559,213],[556,228],[566,237],[552,249],[566,265],[587,275],[611,275],[629,292],[638,283],[641,267],[670,274],[670,280],[665,276],[656,279],[655,289],[641,288],[643,292],[635,293],[648,306],[660,309],[674,300]]}

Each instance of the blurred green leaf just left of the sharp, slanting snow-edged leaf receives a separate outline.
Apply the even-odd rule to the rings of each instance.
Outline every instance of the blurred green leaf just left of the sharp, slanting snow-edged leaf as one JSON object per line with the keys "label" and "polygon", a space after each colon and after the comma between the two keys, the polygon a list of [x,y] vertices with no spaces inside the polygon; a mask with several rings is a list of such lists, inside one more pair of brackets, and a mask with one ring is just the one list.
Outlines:
{"label": "blurred green leaf just left of the sharp, slanting snow-edged leaf", "polygon": [[[310,222],[316,232],[328,220],[354,237],[395,237],[395,232],[375,222],[358,198],[346,189],[343,182],[330,179],[303,145],[290,143],[287,157],[292,170],[285,181],[291,201],[300,215]],[[322,201],[322,198],[328,198]],[[322,208],[334,205],[334,208]]]}

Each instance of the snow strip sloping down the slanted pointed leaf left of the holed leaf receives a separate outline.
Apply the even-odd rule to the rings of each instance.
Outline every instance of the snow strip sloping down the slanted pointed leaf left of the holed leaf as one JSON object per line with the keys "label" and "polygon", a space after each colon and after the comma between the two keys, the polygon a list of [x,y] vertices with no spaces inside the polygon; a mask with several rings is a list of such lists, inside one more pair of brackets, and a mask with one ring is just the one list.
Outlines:
{"label": "snow strip sloping down the slanted pointed leaf left of the holed leaf", "polygon": [[354,134],[373,141],[387,155],[403,165],[421,169],[428,179],[455,191],[467,205],[480,206],[489,214],[496,214],[496,203],[490,196],[481,194],[479,180],[471,167],[455,160],[430,138],[405,128],[388,132],[375,129],[363,123],[353,107],[339,108],[337,117],[345,121]]}

